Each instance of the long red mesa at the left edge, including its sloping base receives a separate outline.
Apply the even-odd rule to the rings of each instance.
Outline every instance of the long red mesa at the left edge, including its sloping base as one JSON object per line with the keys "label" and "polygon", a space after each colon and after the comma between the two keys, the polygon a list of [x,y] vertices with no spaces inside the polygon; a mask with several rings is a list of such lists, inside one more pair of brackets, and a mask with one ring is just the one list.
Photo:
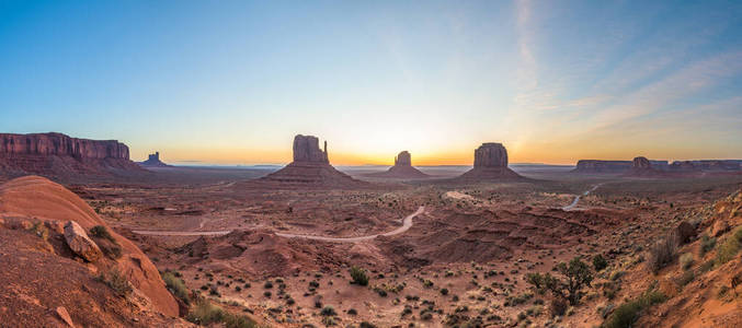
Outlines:
{"label": "long red mesa at the left edge, including its sloping base", "polygon": [[111,174],[141,171],[116,140],[88,140],[61,133],[0,133],[0,172],[11,174]]}

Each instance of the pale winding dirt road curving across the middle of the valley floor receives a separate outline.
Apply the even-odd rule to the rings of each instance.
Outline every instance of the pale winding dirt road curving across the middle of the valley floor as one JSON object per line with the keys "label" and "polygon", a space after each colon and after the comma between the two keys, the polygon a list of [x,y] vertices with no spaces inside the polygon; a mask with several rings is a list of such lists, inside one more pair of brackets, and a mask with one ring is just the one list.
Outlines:
{"label": "pale winding dirt road curving across the middle of the valley floor", "polygon": [[[300,234],[288,234],[288,233],[275,233],[276,236],[279,237],[285,237],[285,238],[304,238],[304,239],[312,239],[312,241],[322,241],[322,242],[340,242],[340,243],[357,243],[357,242],[364,242],[364,241],[370,241],[373,238],[376,238],[378,236],[393,236],[401,234],[410,227],[412,227],[412,219],[415,216],[422,214],[425,211],[425,207],[420,207],[418,210],[410,214],[407,215],[404,219],[402,219],[402,226],[395,229],[390,232],[386,232],[383,234],[374,234],[374,235],[367,235],[367,236],[361,236],[361,237],[327,237],[327,236],[312,236],[312,235],[300,235]],[[220,231],[155,231],[155,230],[133,230],[132,231],[135,234],[138,235],[148,235],[148,236],[219,236],[219,235],[226,235],[230,232],[231,230],[220,230]]]}

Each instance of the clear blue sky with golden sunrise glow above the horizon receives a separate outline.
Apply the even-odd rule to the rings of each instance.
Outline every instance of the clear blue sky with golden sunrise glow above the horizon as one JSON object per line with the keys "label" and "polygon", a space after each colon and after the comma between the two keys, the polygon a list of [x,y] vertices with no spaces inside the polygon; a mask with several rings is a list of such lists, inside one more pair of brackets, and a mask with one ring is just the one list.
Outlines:
{"label": "clear blue sky with golden sunrise glow above the horizon", "polygon": [[0,132],[135,161],[742,159],[742,1],[0,0]]}

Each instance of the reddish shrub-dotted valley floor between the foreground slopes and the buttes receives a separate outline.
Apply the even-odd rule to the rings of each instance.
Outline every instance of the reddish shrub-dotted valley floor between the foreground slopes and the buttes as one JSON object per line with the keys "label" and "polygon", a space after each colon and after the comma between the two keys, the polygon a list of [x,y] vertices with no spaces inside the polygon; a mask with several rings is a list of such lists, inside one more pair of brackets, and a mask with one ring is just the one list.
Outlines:
{"label": "reddish shrub-dotted valley floor between the foreground slopes and the buttes", "polygon": [[[288,327],[597,325],[595,307],[606,302],[600,291],[555,319],[548,295],[534,294],[525,274],[596,254],[618,268],[742,184],[739,175],[666,180],[533,169],[522,172],[532,178],[525,183],[283,190],[233,173],[167,174],[153,184],[71,189],[161,271],[176,271],[190,289],[233,311]],[[367,286],[350,283],[352,266],[367,270]],[[616,297],[636,292],[627,285]],[[322,313],[327,306],[334,314]]]}

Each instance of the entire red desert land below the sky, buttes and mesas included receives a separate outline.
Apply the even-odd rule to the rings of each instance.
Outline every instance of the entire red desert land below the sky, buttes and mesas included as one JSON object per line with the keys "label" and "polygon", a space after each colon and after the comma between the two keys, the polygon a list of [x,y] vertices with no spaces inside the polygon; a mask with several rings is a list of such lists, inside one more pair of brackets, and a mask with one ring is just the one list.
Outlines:
{"label": "entire red desert land below the sky, buttes and mesas included", "polygon": [[13,326],[742,324],[739,161],[509,167],[488,142],[469,169],[346,174],[311,136],[278,171],[0,140]]}

